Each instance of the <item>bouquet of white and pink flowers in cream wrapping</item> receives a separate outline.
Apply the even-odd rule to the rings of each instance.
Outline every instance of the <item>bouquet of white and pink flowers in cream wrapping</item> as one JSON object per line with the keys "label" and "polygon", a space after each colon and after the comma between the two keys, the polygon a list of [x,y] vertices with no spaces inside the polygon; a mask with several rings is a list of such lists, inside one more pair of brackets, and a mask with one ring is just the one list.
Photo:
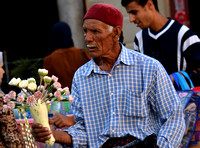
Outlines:
{"label": "bouquet of white and pink flowers in cream wrapping", "polygon": [[[61,100],[67,100],[69,102],[73,101],[69,88],[61,88],[61,84],[58,82],[58,78],[56,76],[47,76],[48,70],[46,69],[38,69],[38,73],[40,75],[39,86],[37,86],[34,78],[29,78],[27,80],[12,78],[9,85],[20,88],[21,93],[17,95],[15,91],[10,91],[4,96],[4,102],[6,102],[7,105],[4,105],[3,111],[6,112],[8,108],[17,108],[20,119],[22,113],[25,119],[25,128],[22,128],[22,134],[28,141],[27,143],[25,141],[25,144],[30,147],[31,145],[34,145],[35,141],[30,132],[30,126],[26,118],[25,110],[27,108],[30,109],[35,123],[41,123],[44,127],[48,127],[50,129],[47,105]],[[20,125],[23,127],[21,122]],[[53,135],[51,135],[49,140],[45,141],[45,143],[49,146],[52,146],[54,142],[55,139]]]}

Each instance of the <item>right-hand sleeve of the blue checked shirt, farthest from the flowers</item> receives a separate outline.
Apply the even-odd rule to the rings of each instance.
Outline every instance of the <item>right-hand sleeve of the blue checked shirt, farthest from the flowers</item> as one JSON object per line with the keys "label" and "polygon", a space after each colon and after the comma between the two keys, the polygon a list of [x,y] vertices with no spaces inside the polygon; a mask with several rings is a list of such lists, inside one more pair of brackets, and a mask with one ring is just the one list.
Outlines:
{"label": "right-hand sleeve of the blue checked shirt, farthest from the flowers", "polygon": [[152,89],[154,92],[151,94],[156,95],[154,103],[161,123],[157,145],[161,148],[177,148],[185,132],[181,102],[168,74],[159,63],[154,78],[156,87]]}

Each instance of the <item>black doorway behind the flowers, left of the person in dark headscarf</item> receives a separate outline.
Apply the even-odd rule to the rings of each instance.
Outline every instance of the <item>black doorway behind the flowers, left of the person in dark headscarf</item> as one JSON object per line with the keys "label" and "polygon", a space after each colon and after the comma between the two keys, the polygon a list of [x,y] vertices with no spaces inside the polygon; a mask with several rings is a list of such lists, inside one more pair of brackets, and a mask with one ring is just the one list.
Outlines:
{"label": "black doorway behind the flowers, left of the person in dark headscarf", "polygon": [[58,21],[57,0],[0,1],[0,51],[7,55],[5,93],[12,77],[37,76],[42,59],[53,51],[51,28]]}

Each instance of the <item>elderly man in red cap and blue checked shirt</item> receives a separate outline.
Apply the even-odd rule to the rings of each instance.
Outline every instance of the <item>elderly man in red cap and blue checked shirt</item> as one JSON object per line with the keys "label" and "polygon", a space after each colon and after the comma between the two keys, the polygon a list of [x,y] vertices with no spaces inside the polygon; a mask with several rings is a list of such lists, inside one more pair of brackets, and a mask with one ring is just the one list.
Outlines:
{"label": "elderly man in red cap and blue checked shirt", "polygon": [[183,113],[163,66],[118,41],[123,16],[117,8],[94,4],[83,20],[92,59],[73,78],[76,124],[65,132],[33,124],[36,140],[53,133],[56,142],[77,148],[134,147],[156,135],[159,147],[178,147],[185,131]]}

